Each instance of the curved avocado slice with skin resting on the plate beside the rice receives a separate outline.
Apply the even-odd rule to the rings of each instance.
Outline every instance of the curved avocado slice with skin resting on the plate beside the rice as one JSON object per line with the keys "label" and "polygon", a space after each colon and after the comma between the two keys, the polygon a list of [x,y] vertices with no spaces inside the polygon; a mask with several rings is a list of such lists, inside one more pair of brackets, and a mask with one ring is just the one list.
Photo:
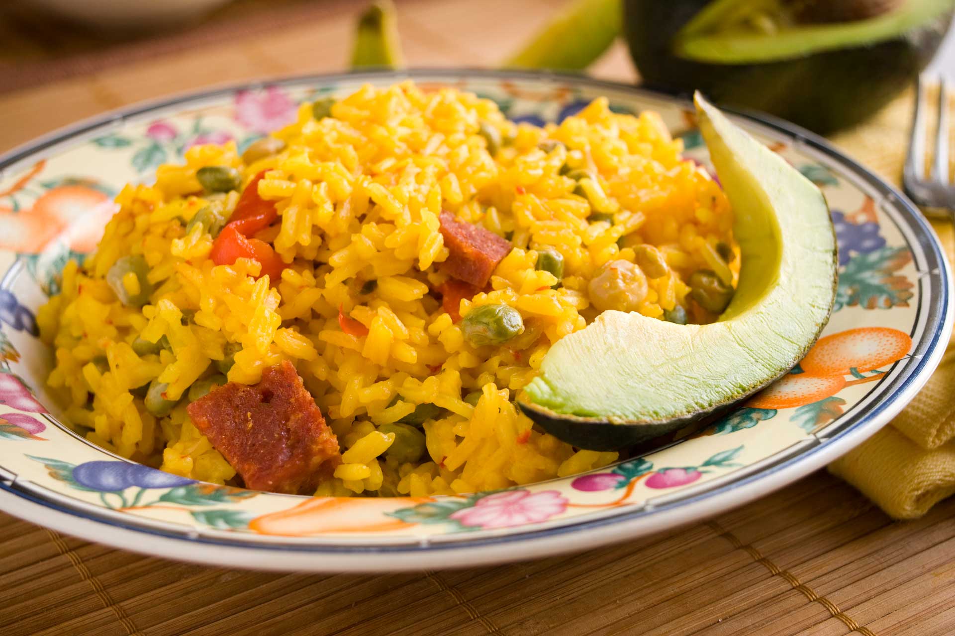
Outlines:
{"label": "curved avocado slice with skin resting on the plate beside the rice", "polygon": [[732,203],[736,293],[711,324],[608,311],[555,342],[519,403],[579,448],[622,448],[728,409],[802,359],[832,311],[837,248],[822,193],[699,93],[695,103]]}

